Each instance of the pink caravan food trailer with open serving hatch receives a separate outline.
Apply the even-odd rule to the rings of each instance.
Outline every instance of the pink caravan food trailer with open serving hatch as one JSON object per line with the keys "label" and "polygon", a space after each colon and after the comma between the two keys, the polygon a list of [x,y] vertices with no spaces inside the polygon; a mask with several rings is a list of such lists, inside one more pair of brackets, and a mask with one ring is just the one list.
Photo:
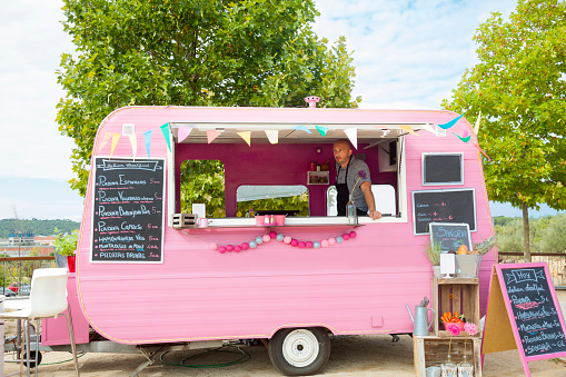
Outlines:
{"label": "pink caravan food trailer with open serving hatch", "polygon": [[[288,375],[320,371],[329,335],[413,333],[406,304],[433,296],[428,224],[467,222],[475,242],[494,235],[477,140],[456,118],[438,110],[113,111],[95,141],[78,245],[85,319],[122,345],[262,339]],[[455,119],[448,131],[438,127]],[[339,139],[367,162],[381,219],[352,225],[332,215]],[[427,170],[428,156],[455,158],[450,167],[433,159]],[[207,202],[181,212],[188,160],[224,163],[225,217],[211,217]],[[311,169],[328,160],[329,170]],[[238,214],[239,197],[281,188],[308,195],[308,214],[288,208],[284,222],[269,208],[264,218]],[[446,207],[423,208],[435,201]],[[479,271],[481,312],[495,252]]]}

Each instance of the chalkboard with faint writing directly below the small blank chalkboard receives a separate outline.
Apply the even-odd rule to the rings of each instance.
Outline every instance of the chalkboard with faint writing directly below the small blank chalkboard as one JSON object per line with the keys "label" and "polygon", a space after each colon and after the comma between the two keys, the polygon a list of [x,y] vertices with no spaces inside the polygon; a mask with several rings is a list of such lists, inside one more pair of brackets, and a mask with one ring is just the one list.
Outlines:
{"label": "chalkboard with faint writing directly below the small blank chalkboard", "polygon": [[464,222],[476,231],[476,190],[413,191],[415,235],[428,235],[430,222]]}

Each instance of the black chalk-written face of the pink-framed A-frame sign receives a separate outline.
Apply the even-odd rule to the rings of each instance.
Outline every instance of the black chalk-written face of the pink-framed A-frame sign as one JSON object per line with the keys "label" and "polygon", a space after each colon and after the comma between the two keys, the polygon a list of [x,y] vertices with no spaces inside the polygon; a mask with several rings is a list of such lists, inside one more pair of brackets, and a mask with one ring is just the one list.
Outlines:
{"label": "black chalk-written face of the pink-framed A-frame sign", "polygon": [[544,267],[502,267],[507,296],[526,357],[566,351],[564,328]]}

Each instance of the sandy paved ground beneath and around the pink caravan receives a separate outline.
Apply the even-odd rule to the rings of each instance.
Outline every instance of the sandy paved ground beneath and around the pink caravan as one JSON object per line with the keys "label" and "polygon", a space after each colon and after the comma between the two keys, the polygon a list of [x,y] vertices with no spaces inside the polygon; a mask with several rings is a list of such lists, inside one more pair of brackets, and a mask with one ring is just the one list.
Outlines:
{"label": "sandy paved ground beneath and around the pink caravan", "polygon": [[[566,312],[566,291],[559,291],[558,297],[563,312]],[[216,369],[193,369],[181,366],[165,365],[156,361],[143,369],[139,376],[281,376],[269,360],[267,349],[260,346],[241,346],[250,356],[246,363]],[[198,351],[173,353],[165,356],[165,361],[180,364],[187,356]],[[9,355],[7,354],[7,359]],[[73,376],[72,361],[62,364],[70,358],[68,353],[44,353],[39,367],[42,377]],[[238,358],[238,355],[216,353],[206,358],[186,361],[186,364],[221,364]],[[138,365],[143,363],[141,355],[119,354],[88,354],[79,359],[81,376],[128,376]],[[529,363],[532,376],[565,376],[566,358],[556,358]],[[19,370],[13,364],[4,363],[4,373]],[[321,374],[322,376],[414,376],[413,339],[401,336],[398,343],[393,343],[390,336],[351,336],[332,340],[330,360]],[[523,366],[517,350],[486,355],[484,376],[514,377],[522,376]]]}

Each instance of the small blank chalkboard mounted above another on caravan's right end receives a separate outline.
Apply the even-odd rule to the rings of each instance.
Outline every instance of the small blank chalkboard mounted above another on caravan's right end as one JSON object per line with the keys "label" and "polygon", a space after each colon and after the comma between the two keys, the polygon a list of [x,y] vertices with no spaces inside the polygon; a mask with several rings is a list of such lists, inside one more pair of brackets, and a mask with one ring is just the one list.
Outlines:
{"label": "small blank chalkboard mounted above another on caravan's right end", "polygon": [[424,153],[423,186],[464,185],[463,153]]}

